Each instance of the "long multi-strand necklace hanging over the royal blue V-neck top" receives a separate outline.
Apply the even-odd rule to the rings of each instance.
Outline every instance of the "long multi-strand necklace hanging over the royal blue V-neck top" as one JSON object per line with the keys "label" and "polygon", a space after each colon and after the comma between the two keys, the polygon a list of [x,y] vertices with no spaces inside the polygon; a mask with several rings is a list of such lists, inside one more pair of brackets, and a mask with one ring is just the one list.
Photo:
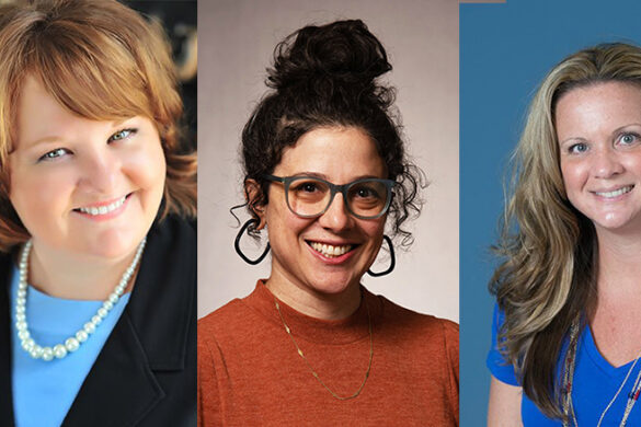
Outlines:
{"label": "long multi-strand necklace hanging over the royal blue V-neck top", "polygon": [[[570,426],[570,418],[572,420],[572,424],[575,427],[579,427],[579,423],[576,422],[576,415],[574,414],[574,405],[572,404],[572,388],[573,388],[573,383],[574,383],[574,363],[576,362],[576,347],[579,346],[579,324],[580,324],[580,321],[579,321],[579,316],[577,316],[574,320],[574,322],[572,322],[572,326],[570,326],[570,346],[568,348],[568,356],[565,357],[565,362],[564,362],[565,369],[564,369],[564,373],[563,373],[563,386],[561,389],[563,391],[563,400],[562,400],[562,402],[563,402],[563,427]],[[637,358],[634,359],[634,362],[632,363],[632,366],[628,370],[628,373],[626,374],[623,382],[621,382],[619,390],[617,390],[617,392],[615,393],[615,396],[610,400],[610,402],[607,404],[606,408],[602,412],[600,417],[598,418],[598,424],[596,425],[597,427],[600,427],[603,419],[605,418],[607,412],[610,409],[610,407],[613,406],[613,404],[615,403],[615,401],[617,400],[617,397],[621,393],[621,390],[623,390],[623,386],[628,382],[628,379],[630,378],[630,374],[634,370],[634,366],[637,366],[637,362],[639,361],[640,358],[641,358],[641,354],[639,354],[639,356],[637,356]],[[619,427],[626,426],[626,423],[628,422],[628,417],[630,416],[630,412],[632,412],[632,408],[634,407],[637,400],[639,400],[640,394],[641,394],[641,370],[637,374],[637,379],[634,381],[634,384],[632,385],[632,391],[628,394],[628,401],[626,403],[626,411],[623,412],[623,416],[621,417],[621,422],[619,424]]]}

